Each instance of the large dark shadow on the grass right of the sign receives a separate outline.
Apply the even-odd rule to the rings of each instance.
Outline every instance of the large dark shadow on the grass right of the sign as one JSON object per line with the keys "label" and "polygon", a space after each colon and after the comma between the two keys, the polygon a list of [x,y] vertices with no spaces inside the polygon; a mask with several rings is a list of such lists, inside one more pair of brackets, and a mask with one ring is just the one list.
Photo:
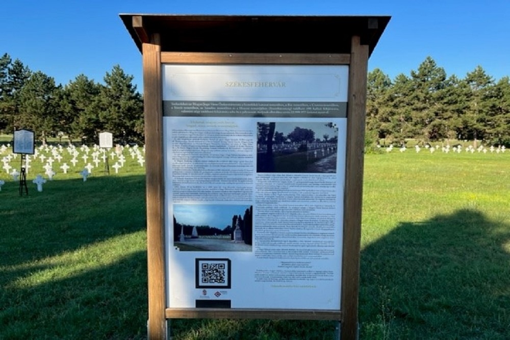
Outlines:
{"label": "large dark shadow on the grass right of the sign", "polygon": [[508,339],[509,242],[474,210],[401,223],[362,251],[362,338]]}

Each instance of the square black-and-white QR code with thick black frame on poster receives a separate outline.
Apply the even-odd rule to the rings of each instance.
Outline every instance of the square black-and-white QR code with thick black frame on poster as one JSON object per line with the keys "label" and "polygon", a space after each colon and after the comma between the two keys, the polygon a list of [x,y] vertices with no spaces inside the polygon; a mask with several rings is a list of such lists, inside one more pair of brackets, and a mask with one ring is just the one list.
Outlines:
{"label": "square black-and-white QR code with thick black frame on poster", "polygon": [[195,259],[197,288],[230,288],[231,261],[228,258]]}

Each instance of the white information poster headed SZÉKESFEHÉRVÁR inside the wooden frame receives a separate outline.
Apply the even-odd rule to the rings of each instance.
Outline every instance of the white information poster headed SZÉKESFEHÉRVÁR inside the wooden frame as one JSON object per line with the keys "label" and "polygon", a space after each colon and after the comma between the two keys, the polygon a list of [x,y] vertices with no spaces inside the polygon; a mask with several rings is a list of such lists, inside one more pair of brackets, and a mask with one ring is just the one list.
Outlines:
{"label": "white information poster headed SZ\u00c9KESFEH\u00c9RV\u00c1R inside the wooden frame", "polygon": [[167,306],[340,310],[348,66],[162,68]]}

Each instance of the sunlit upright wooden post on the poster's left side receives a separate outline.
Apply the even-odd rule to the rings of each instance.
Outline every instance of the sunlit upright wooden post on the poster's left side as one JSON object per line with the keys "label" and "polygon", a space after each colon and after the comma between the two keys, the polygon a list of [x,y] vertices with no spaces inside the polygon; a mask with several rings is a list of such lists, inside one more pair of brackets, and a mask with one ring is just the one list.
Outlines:
{"label": "sunlit upright wooden post on the poster's left side", "polygon": [[164,267],[163,109],[159,35],[144,43],[143,93],[146,154],[148,339],[166,339]]}

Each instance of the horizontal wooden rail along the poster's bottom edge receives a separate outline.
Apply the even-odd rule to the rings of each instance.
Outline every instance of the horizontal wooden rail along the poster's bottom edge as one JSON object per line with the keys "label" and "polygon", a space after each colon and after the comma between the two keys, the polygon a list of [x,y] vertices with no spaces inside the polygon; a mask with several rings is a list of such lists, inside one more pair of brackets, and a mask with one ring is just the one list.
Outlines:
{"label": "horizontal wooden rail along the poster's bottom edge", "polygon": [[167,308],[168,319],[341,320],[339,310]]}

